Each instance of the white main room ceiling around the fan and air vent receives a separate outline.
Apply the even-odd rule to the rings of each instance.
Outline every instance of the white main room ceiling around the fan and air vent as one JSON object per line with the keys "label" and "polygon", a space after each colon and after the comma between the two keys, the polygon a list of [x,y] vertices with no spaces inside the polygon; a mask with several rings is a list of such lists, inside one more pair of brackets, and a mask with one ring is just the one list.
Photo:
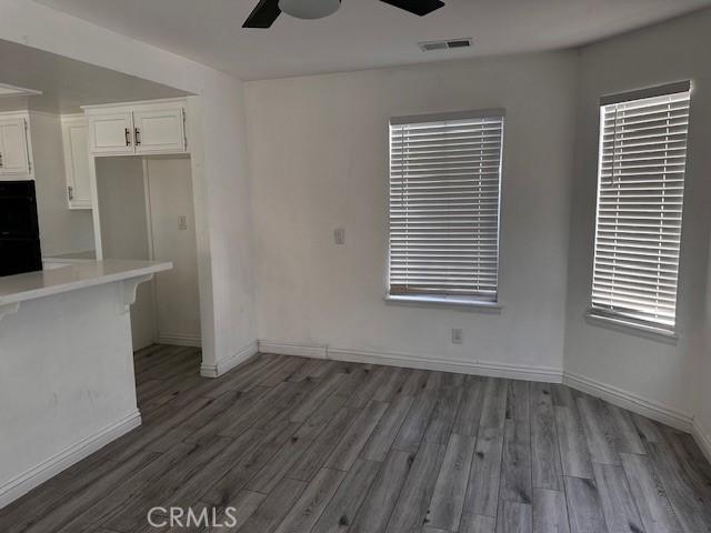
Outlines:
{"label": "white main room ceiling around the fan and air vent", "polygon": [[[711,0],[444,0],[419,18],[379,0],[342,0],[333,16],[282,14],[242,29],[258,0],[36,0],[244,80],[570,48],[711,6]],[[470,50],[418,41],[472,37]]]}

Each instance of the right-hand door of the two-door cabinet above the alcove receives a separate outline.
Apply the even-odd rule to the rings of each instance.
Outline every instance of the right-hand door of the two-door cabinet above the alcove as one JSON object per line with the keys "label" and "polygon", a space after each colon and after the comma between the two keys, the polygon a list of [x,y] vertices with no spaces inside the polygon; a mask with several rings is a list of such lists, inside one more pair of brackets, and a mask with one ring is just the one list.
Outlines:
{"label": "right-hand door of the two-door cabinet above the alcove", "polygon": [[133,112],[136,153],[186,151],[186,131],[181,107]]}

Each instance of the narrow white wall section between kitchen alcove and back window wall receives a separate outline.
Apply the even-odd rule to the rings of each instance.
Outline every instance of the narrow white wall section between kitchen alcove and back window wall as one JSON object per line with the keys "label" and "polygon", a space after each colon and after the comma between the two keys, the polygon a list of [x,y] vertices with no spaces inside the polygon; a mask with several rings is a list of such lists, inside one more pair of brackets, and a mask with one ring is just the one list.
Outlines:
{"label": "narrow white wall section between kitchen alcove and back window wall", "polygon": [[[192,137],[193,194],[198,201],[207,200],[201,202],[207,209],[196,211],[198,264],[201,266],[208,258],[211,262],[212,291],[203,289],[202,268],[200,272],[200,305],[213,312],[212,316],[201,314],[202,373],[206,375],[221,374],[257,351],[254,232],[243,87],[239,82],[226,82],[217,89],[209,99],[191,99],[194,105],[190,108],[203,124],[203,134],[197,142],[204,143],[202,150],[196,151],[196,137]],[[202,168],[208,179],[196,180],[196,173]],[[201,233],[206,231],[201,228],[209,230],[209,235],[202,239]],[[207,334],[210,331],[213,333]],[[210,353],[216,356],[210,358]]]}

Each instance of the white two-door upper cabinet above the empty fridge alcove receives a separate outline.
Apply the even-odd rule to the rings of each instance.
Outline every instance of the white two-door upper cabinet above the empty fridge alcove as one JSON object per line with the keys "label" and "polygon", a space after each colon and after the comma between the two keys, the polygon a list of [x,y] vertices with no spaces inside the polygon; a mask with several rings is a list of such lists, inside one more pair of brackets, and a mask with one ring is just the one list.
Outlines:
{"label": "white two-door upper cabinet above the empty fridge alcove", "polygon": [[187,152],[186,101],[84,108],[93,155]]}

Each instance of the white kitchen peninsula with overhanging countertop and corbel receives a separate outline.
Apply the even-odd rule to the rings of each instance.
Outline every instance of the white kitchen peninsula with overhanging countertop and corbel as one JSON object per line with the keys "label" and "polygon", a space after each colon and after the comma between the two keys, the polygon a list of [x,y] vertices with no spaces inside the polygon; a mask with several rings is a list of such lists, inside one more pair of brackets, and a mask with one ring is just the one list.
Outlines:
{"label": "white kitchen peninsula with overhanging countertop and corbel", "polygon": [[0,278],[0,507],[141,423],[130,306],[170,262]]}

